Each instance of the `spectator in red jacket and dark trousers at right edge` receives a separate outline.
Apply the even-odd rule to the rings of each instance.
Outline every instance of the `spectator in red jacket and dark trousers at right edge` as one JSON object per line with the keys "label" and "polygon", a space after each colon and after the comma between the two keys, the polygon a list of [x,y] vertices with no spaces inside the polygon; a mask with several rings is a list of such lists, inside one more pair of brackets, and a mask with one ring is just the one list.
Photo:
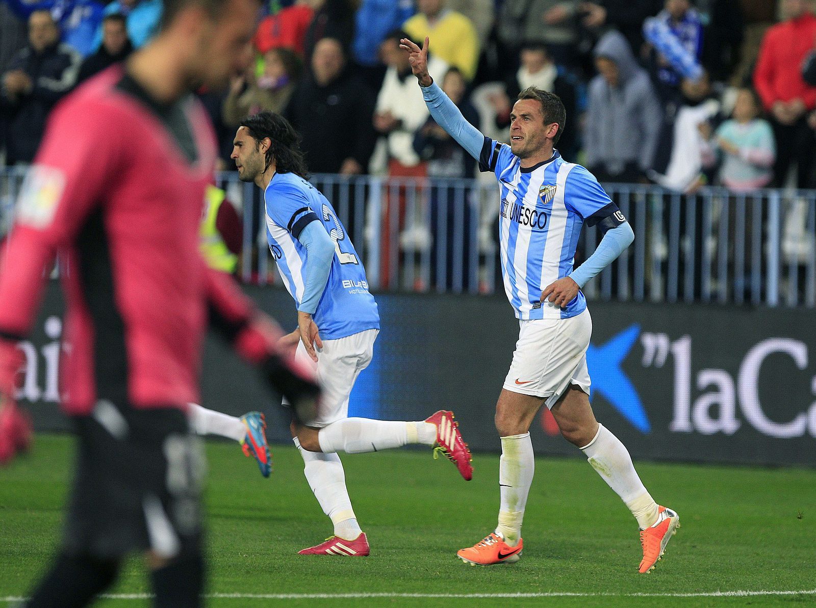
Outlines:
{"label": "spectator in red jacket and dark trousers at right edge", "polygon": [[814,130],[807,121],[816,108],[816,87],[802,78],[801,65],[813,49],[816,16],[807,0],[783,0],[786,20],[765,33],[754,70],[754,86],[770,114],[777,156],[774,186],[783,186],[796,163],[796,186],[812,187]]}

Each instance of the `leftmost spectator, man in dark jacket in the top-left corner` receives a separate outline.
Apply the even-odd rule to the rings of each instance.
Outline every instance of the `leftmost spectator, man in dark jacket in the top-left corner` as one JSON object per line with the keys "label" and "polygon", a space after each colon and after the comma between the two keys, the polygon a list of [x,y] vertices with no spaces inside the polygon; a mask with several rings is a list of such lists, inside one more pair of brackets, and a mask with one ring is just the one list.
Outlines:
{"label": "leftmost spectator, man in dark jacket in the top-left corner", "polygon": [[30,163],[39,148],[51,108],[75,82],[81,57],[60,42],[60,29],[48,11],[29,17],[26,46],[2,75],[0,111],[7,115],[7,163]]}

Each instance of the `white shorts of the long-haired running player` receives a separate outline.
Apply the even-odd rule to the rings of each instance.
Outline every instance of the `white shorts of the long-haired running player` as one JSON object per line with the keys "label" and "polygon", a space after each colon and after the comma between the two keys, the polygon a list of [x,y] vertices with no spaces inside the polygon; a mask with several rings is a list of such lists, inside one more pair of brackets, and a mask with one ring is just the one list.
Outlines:
{"label": "white shorts of the long-haired running player", "polygon": [[[337,340],[322,340],[317,350],[317,363],[306,352],[303,341],[298,343],[295,359],[317,372],[317,381],[323,390],[317,416],[307,426],[322,428],[332,422],[348,418],[348,397],[360,372],[368,367],[374,356],[374,341],[379,329],[366,329]],[[286,404],[286,399],[283,400]]]}

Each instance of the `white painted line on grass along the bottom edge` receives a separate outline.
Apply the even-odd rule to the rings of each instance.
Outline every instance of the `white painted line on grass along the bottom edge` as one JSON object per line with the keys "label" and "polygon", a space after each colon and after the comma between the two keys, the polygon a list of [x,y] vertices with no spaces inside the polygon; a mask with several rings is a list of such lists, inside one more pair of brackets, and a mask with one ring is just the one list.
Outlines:
{"label": "white painted line on grass along the bottom edge", "polygon": [[[480,598],[516,598],[527,597],[752,597],[752,596],[782,596],[782,595],[816,595],[816,589],[800,591],[707,591],[697,593],[584,593],[570,591],[552,591],[543,593],[207,593],[206,599],[235,599],[235,600],[339,600],[365,599],[367,597],[403,597],[403,598],[439,598],[439,599],[468,599]],[[149,600],[150,593],[105,593],[100,597],[108,600]],[[24,601],[27,597],[0,597],[0,601]]]}

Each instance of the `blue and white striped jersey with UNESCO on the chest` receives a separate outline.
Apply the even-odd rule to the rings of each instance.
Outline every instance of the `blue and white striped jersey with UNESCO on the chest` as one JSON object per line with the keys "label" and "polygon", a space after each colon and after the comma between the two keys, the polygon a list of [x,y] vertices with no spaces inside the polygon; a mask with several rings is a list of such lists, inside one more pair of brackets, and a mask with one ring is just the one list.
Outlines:
{"label": "blue and white striped jersey with UNESCO on the chest", "polygon": [[583,312],[583,293],[565,308],[540,302],[543,289],[573,270],[584,222],[593,226],[619,213],[596,178],[555,151],[528,169],[510,146],[485,138],[481,171],[493,171],[501,189],[499,241],[504,290],[518,319],[566,319]]}

